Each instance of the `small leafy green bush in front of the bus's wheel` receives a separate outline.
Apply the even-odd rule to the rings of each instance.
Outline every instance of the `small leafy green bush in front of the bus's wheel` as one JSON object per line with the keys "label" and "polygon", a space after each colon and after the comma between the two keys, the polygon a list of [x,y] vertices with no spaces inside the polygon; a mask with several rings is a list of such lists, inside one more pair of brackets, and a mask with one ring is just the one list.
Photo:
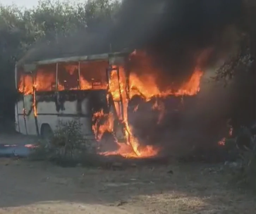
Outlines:
{"label": "small leafy green bush in front of the bus's wheel", "polygon": [[[91,142],[84,138],[79,120],[59,121],[53,136],[41,141],[30,160],[48,160],[62,166],[74,166],[82,156],[94,153]],[[84,159],[84,158],[83,158]]]}

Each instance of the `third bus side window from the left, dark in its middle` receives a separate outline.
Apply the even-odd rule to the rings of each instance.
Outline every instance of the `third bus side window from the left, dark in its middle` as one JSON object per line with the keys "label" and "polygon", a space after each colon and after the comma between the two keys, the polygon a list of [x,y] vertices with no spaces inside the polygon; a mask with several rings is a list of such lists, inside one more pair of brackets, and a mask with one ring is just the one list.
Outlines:
{"label": "third bus side window from the left, dark in its middle", "polygon": [[79,63],[58,64],[58,90],[79,89]]}

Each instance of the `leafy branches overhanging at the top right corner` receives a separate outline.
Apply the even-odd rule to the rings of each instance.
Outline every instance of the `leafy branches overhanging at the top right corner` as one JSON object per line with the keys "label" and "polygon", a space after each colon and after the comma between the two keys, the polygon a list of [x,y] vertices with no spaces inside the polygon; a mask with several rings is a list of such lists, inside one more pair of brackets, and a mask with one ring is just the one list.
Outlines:
{"label": "leafy branches overhanging at the top right corner", "polygon": [[[215,80],[230,80],[234,76],[250,71],[252,75],[256,72],[256,1],[242,0],[242,18],[233,26],[235,30],[228,31],[226,43],[232,41],[234,49],[217,71]],[[248,77],[247,77],[248,78]],[[250,76],[248,79],[252,78]]]}

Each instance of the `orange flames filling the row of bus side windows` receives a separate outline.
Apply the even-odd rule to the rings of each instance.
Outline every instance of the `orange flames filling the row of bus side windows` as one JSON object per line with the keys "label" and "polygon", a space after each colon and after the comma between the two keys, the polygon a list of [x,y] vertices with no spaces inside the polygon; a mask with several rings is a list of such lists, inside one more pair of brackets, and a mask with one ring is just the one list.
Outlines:
{"label": "orange flames filling the row of bus side windows", "polygon": [[[36,92],[56,90],[88,90],[106,89],[105,61],[81,63],[62,63],[58,66],[58,81],[56,86],[56,64],[38,66],[35,74],[19,73],[18,91],[24,95],[33,94],[32,108],[37,116]],[[93,71],[93,72],[92,72]],[[103,71],[103,72],[102,72]],[[79,78],[80,73],[80,78]],[[26,109],[24,109],[26,112]]]}

